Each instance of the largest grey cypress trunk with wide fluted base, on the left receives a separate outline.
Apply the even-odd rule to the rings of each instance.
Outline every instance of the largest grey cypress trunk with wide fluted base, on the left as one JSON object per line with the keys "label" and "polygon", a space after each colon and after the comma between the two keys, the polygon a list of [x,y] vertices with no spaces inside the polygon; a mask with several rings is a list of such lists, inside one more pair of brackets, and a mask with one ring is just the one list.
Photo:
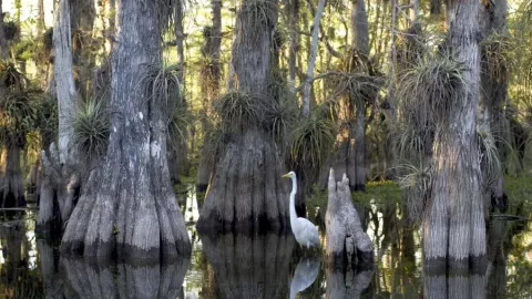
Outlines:
{"label": "largest grey cypress trunk with wide fluted base, on the left", "polygon": [[63,235],[61,249],[106,259],[173,259],[191,251],[166,161],[165,103],[143,78],[161,66],[156,1],[116,1],[111,134]]}

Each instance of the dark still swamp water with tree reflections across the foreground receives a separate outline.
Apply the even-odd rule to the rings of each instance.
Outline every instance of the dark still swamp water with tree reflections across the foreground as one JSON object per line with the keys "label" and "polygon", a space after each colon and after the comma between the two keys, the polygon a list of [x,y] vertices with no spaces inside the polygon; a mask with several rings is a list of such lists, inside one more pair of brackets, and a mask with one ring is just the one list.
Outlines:
{"label": "dark still swamp water with tree reflections across the foreground", "polygon": [[490,224],[485,272],[423,274],[418,229],[395,205],[375,207],[368,231],[378,262],[334,270],[291,235],[200,236],[195,195],[181,204],[194,249],[167,265],[64,258],[35,237],[34,209],[0,212],[0,298],[532,298],[532,235],[523,220]]}

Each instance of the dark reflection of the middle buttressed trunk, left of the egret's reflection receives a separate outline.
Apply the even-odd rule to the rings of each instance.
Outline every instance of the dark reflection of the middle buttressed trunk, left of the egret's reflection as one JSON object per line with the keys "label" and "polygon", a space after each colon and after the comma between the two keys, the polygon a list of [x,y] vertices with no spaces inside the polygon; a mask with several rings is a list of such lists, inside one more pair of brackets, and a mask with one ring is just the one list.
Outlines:
{"label": "dark reflection of the middle buttressed trunk, left of the egret's reflection", "polygon": [[205,283],[211,291],[203,292],[203,298],[284,298],[288,293],[291,235],[201,234],[200,238],[215,276],[215,281]]}

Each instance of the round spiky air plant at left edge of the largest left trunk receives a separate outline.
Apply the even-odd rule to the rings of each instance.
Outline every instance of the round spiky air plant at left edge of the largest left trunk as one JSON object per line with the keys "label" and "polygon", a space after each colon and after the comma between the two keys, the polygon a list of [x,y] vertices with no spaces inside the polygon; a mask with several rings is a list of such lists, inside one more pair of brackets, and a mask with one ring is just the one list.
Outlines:
{"label": "round spiky air plant at left edge of the largest left trunk", "polygon": [[80,103],[73,117],[72,145],[86,158],[102,156],[109,143],[110,115],[103,101]]}

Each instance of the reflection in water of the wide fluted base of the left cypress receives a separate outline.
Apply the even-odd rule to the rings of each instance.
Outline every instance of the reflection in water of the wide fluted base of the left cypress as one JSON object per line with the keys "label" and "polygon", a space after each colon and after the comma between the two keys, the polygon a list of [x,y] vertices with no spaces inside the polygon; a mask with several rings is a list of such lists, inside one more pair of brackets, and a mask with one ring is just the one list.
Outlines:
{"label": "reflection in water of the wide fluted base of the left cypress", "polygon": [[183,298],[190,257],[168,264],[94,265],[61,258],[68,298]]}

